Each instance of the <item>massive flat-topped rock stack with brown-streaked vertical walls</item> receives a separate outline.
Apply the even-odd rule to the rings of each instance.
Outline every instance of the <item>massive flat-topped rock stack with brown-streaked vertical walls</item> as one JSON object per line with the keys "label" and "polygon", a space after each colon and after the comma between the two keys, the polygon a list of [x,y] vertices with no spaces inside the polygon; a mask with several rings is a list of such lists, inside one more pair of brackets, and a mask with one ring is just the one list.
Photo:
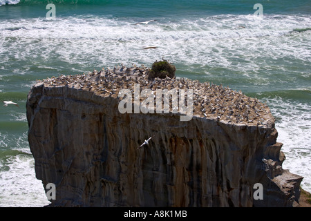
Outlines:
{"label": "massive flat-topped rock stack with brown-streaked vertical walls", "polygon": [[[149,86],[144,71],[138,76]],[[124,85],[136,74],[62,76],[30,90],[28,140],[37,179],[56,186],[51,206],[296,206],[303,177],[282,169],[267,107],[257,114],[261,124],[226,120],[213,107],[204,117],[194,106],[189,121],[173,113],[122,114],[109,82]],[[256,183],[263,200],[254,199]]]}

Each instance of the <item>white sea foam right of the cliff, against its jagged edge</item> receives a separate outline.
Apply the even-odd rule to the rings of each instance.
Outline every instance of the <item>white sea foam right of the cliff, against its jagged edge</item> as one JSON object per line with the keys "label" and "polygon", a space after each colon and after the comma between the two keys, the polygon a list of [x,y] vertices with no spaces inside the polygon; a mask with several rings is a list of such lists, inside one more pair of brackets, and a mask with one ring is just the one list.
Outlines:
{"label": "white sea foam right of the cliff, against its jagged edge", "polygon": [[301,186],[311,192],[311,106],[301,102],[289,102],[281,97],[267,99],[276,117],[278,142],[287,157],[283,169],[302,175]]}

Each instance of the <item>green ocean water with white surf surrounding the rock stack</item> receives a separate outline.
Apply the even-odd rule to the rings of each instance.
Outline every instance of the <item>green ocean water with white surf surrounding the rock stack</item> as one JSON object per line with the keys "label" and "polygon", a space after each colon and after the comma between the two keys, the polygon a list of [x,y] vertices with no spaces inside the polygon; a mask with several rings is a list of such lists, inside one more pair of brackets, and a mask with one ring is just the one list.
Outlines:
{"label": "green ocean water with white surf surrounding the rock stack", "polygon": [[[256,3],[262,16],[254,16]],[[0,206],[49,203],[27,140],[25,105],[36,79],[162,57],[178,77],[266,102],[283,169],[302,175],[311,192],[311,1],[0,0],[0,100],[19,104],[0,106]]]}

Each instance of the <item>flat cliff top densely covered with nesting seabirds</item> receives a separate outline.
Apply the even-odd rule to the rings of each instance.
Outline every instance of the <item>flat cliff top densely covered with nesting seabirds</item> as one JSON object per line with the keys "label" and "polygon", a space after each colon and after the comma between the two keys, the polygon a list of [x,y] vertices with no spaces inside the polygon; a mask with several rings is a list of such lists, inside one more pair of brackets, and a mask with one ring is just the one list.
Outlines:
{"label": "flat cliff top densely covered with nesting seabirds", "polygon": [[[194,116],[216,119],[229,124],[255,126],[272,126],[274,124],[274,117],[270,108],[256,98],[247,97],[241,90],[236,91],[210,82],[202,83],[187,78],[165,77],[161,79],[156,77],[150,79],[149,70],[150,68],[144,66],[102,68],[100,71],[93,70],[93,73],[59,75],[58,77],[39,80],[39,82],[43,82],[45,87],[66,86],[77,90],[91,91],[102,97],[114,97],[115,99],[120,99],[118,96],[120,90],[129,89],[133,94],[133,101],[135,100],[133,93],[135,85],[139,85],[140,93],[144,89],[150,89],[155,97],[156,90],[159,89],[177,89],[179,91],[182,89],[185,90],[186,94],[192,89]],[[179,99],[180,97],[178,97]],[[140,97],[140,102],[143,100]],[[172,98],[170,98],[170,111],[173,110],[172,102]],[[185,96],[185,105],[187,105],[187,95]]]}

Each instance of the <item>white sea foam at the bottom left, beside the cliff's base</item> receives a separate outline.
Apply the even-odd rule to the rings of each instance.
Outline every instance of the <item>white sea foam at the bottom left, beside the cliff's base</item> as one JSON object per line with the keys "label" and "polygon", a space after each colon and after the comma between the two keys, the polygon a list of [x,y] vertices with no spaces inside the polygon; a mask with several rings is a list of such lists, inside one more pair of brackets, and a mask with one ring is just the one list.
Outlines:
{"label": "white sea foam at the bottom left, beside the cliff's base", "polygon": [[1,151],[8,152],[0,158],[0,207],[49,204],[41,180],[35,177],[35,160],[28,147],[27,134],[17,137],[0,133]]}

